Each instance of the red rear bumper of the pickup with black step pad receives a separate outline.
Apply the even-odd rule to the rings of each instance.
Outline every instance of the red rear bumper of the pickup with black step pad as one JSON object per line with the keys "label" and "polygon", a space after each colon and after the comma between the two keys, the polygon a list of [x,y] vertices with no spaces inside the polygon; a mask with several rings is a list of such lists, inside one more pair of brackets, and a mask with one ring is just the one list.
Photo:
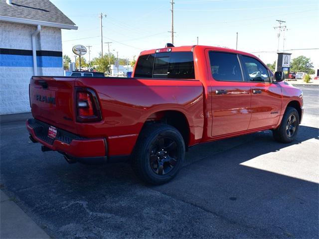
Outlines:
{"label": "red rear bumper of the pickup with black step pad", "polygon": [[46,148],[64,154],[72,161],[106,163],[107,141],[105,138],[85,138],[57,128],[57,136],[47,136],[49,124],[37,119],[28,119],[26,127],[32,138]]}

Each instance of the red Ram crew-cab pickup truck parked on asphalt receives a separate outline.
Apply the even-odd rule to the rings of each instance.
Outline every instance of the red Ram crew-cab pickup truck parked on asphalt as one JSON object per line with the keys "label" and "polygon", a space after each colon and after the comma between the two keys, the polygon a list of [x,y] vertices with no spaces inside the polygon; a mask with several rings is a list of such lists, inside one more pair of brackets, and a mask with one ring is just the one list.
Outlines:
{"label": "red Ram crew-cab pickup truck parked on asphalt", "polygon": [[296,138],[303,93],[256,56],[211,46],[143,51],[132,78],[30,80],[27,129],[42,151],[72,162],[130,158],[151,184],[179,171],[190,146],[271,129]]}

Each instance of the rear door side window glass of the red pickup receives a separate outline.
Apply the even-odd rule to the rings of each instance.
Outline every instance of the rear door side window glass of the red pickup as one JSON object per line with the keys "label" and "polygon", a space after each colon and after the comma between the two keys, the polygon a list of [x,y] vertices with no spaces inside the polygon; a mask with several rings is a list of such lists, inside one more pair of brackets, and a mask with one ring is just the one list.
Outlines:
{"label": "rear door side window glass of the red pickup", "polygon": [[209,52],[212,76],[217,81],[243,81],[237,54]]}

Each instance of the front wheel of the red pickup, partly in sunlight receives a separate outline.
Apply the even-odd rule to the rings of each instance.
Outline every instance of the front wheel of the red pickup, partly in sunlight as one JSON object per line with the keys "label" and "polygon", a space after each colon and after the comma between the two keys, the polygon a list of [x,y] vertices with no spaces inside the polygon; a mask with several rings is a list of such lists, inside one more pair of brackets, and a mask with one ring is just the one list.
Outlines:
{"label": "front wheel of the red pickup, partly in sunlight", "polygon": [[273,130],[273,136],[279,142],[290,143],[295,140],[298,129],[298,111],[293,107],[287,107],[279,127]]}

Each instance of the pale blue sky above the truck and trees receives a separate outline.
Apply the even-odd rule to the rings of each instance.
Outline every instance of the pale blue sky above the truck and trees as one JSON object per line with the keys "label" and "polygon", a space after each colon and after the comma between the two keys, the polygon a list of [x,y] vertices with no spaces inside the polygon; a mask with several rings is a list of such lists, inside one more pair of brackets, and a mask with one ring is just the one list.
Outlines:
{"label": "pale blue sky above the truck and trees", "polygon": [[[74,59],[72,47],[91,47],[91,59],[101,52],[100,18],[103,13],[103,42],[119,58],[137,58],[141,51],[162,48],[171,42],[170,0],[51,0],[78,26],[62,30],[63,54]],[[174,45],[209,45],[253,53],[262,61],[277,58],[278,28],[283,20],[285,50],[292,58],[310,57],[319,67],[319,0],[174,0]],[[108,45],[103,43],[104,54]],[[281,32],[279,50],[283,49]],[[87,60],[88,53],[84,56]]]}

